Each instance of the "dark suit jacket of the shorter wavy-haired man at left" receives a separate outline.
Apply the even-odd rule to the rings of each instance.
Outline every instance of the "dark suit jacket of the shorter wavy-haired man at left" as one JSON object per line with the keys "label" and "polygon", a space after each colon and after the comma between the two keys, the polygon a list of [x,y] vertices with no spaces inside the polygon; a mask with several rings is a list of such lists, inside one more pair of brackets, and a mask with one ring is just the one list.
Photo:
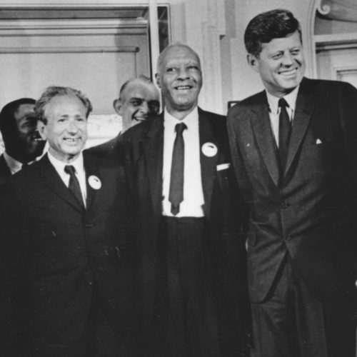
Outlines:
{"label": "dark suit jacket of the shorter wavy-haired man at left", "polygon": [[116,331],[138,328],[124,169],[86,153],[84,166],[101,181],[95,188],[87,179],[86,211],[46,155],[6,187],[1,256],[24,351],[81,356],[66,348],[88,330],[93,306]]}

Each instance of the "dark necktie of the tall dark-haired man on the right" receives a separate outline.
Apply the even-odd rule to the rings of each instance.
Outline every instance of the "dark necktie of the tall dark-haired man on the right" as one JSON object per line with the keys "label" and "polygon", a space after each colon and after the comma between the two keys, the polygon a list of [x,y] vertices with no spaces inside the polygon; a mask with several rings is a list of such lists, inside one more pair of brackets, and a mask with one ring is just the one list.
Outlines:
{"label": "dark necktie of the tall dark-haired man on the right", "polygon": [[283,98],[279,99],[278,106],[280,108],[279,161],[280,161],[281,176],[283,176],[286,166],[286,159],[288,158],[288,146],[289,146],[290,135],[291,135],[291,122],[288,116],[288,111],[286,111],[286,107],[288,107],[288,103],[286,103],[286,100]]}

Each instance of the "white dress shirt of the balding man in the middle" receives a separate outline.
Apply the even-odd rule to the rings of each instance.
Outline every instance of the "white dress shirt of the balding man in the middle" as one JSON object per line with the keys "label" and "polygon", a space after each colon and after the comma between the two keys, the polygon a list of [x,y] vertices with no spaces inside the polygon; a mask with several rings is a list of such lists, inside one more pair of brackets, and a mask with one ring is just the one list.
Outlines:
{"label": "white dress shirt of the balding man in the middle", "polygon": [[198,131],[198,109],[191,111],[183,120],[178,120],[164,110],[164,165],[162,187],[162,214],[173,216],[169,201],[172,151],[176,139],[176,124],[184,123],[187,129],[183,131],[185,143],[183,172],[183,201],[176,217],[203,217],[203,188],[201,180],[200,141]]}

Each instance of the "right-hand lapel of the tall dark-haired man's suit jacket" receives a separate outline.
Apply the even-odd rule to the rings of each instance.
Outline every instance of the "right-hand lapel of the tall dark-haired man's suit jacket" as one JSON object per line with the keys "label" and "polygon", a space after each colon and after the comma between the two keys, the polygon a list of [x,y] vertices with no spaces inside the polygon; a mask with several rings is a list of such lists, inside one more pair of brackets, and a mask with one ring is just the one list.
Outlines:
{"label": "right-hand lapel of the tall dark-haired man's suit jacket", "polygon": [[296,99],[296,109],[293,119],[293,127],[291,131],[291,139],[288,149],[288,159],[286,160],[286,168],[284,175],[288,172],[293,162],[298,148],[305,136],[308,124],[310,123],[311,114],[313,112],[313,101],[311,94],[308,91],[308,79],[303,79],[298,91]]}

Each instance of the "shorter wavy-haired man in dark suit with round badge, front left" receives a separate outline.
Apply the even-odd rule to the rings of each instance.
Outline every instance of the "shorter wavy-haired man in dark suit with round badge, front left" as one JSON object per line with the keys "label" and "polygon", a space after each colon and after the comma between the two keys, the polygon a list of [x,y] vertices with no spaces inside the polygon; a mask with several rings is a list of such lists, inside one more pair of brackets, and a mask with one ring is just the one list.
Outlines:
{"label": "shorter wavy-haired man in dark suit with round badge, front left", "polygon": [[19,356],[135,350],[128,190],[123,167],[82,154],[90,111],[81,92],[46,89],[36,115],[49,151],[6,186],[1,258],[11,279]]}

